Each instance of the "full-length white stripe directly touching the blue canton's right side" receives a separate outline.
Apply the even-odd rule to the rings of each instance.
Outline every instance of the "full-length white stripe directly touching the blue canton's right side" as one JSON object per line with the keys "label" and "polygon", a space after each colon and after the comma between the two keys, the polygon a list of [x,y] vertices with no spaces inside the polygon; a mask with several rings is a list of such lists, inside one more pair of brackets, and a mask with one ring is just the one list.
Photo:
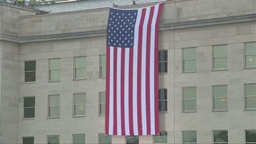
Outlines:
{"label": "full-length white stripe directly touching the blue canton's right side", "polygon": [[139,37],[139,26],[140,19],[142,16],[142,9],[138,10],[137,20],[134,28],[134,41],[133,41],[133,132],[134,135],[138,135],[138,105],[137,105],[137,62],[138,62],[138,37]]}

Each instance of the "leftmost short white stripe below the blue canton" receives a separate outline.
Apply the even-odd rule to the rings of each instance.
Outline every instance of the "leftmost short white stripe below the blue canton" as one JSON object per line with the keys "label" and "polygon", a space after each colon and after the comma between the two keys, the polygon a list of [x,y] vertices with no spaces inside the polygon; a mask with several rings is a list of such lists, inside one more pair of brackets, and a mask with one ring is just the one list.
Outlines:
{"label": "leftmost short white stripe below the blue canton", "polygon": [[109,127],[108,132],[109,135],[113,135],[114,128],[114,48],[109,48]]}

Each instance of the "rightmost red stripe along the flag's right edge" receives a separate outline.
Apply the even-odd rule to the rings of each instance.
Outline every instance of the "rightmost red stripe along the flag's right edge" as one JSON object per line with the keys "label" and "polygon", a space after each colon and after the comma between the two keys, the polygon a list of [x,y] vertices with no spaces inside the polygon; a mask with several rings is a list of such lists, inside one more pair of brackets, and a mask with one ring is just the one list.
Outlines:
{"label": "rightmost red stripe along the flag's right edge", "polygon": [[159,133],[159,20],[163,4],[160,4],[155,29],[155,130]]}

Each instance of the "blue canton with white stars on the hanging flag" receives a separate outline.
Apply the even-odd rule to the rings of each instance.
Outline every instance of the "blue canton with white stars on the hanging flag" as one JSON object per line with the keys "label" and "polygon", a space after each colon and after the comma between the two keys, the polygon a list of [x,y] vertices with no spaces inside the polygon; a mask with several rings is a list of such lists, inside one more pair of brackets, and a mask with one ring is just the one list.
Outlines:
{"label": "blue canton with white stars on the hanging flag", "polygon": [[133,32],[137,12],[137,10],[110,9],[106,38],[106,44],[108,46],[133,47]]}

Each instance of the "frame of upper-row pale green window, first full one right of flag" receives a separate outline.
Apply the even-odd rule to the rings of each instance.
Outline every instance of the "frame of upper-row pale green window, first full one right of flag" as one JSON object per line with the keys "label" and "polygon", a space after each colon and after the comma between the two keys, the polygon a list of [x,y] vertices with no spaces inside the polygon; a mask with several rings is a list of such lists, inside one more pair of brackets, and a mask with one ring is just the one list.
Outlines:
{"label": "frame of upper-row pale green window, first full one right of flag", "polygon": [[[184,59],[184,50],[185,49],[196,49],[196,56],[195,59]],[[195,71],[185,71],[185,61],[196,61],[196,70]],[[182,73],[187,74],[187,73],[197,73],[197,47],[188,47],[188,48],[182,48],[181,49],[181,65],[182,65]]]}

